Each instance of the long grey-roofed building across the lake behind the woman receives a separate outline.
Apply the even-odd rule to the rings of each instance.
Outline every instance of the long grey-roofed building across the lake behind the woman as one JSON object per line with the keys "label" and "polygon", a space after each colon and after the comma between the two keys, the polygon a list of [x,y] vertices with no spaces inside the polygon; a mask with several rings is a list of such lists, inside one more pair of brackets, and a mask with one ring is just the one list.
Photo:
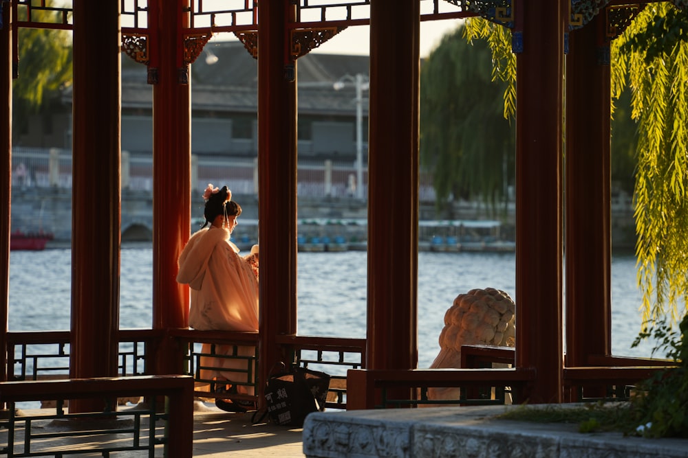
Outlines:
{"label": "long grey-roofed building across the lake behind the woman", "polygon": [[[257,157],[257,60],[239,41],[211,42],[190,67],[191,152],[200,157]],[[367,78],[368,68],[368,56],[310,53],[299,58],[300,161],[356,160],[354,76]],[[153,150],[153,87],[146,75],[144,65],[122,54],[122,150],[133,157]],[[361,141],[367,163],[367,91],[363,96]],[[31,119],[15,145],[71,148],[71,87],[62,101],[51,113]]]}

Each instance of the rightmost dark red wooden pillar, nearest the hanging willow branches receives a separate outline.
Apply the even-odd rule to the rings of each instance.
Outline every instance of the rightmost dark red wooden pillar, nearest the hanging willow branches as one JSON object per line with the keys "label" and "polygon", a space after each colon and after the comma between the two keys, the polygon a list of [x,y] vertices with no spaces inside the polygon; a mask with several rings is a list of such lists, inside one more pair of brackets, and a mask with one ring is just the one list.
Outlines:
{"label": "rightmost dark red wooden pillar, nearest the hanging willow branches", "polygon": [[566,358],[611,354],[609,45],[603,15],[570,33],[566,57]]}

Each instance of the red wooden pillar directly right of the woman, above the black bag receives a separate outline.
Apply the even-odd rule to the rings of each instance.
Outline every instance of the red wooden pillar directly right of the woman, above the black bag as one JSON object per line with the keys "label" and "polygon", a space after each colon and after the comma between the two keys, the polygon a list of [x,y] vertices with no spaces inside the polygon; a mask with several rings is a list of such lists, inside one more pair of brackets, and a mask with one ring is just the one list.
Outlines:
{"label": "red wooden pillar directly right of the woman, above the black bag", "polygon": [[289,0],[258,8],[258,211],[260,365],[262,386],[275,363],[288,363],[275,343],[297,332],[297,62],[289,57]]}

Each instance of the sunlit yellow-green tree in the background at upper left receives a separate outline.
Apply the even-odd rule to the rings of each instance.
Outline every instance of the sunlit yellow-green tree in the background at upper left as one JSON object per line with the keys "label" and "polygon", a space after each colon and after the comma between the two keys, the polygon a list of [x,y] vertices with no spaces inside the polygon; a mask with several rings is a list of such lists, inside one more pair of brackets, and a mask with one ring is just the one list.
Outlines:
{"label": "sunlit yellow-green tree in the background at upper left", "polygon": [[[20,14],[23,9],[19,10]],[[24,13],[25,14],[25,13]],[[54,18],[58,18],[57,21]],[[56,13],[32,10],[32,19],[60,22]],[[25,21],[25,18],[19,18]],[[60,89],[72,84],[72,37],[65,30],[19,29],[19,78],[12,83],[12,137],[21,138],[28,119],[49,113]]]}

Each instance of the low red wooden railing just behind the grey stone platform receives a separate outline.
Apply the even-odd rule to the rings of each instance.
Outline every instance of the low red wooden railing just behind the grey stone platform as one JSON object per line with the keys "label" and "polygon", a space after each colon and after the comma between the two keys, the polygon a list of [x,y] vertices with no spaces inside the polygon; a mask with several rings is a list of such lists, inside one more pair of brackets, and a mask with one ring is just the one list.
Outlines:
{"label": "low red wooden railing just behind the grey stone platform", "polygon": [[[535,369],[491,369],[515,366],[513,347],[463,345],[462,369],[350,370],[348,409],[374,409],[433,404],[495,404],[511,395],[527,400]],[[566,360],[566,358],[564,358]],[[627,356],[591,356],[589,367],[563,367],[565,402],[627,400],[641,380],[674,366],[670,360]],[[454,388],[451,399],[429,398],[430,389]]]}

